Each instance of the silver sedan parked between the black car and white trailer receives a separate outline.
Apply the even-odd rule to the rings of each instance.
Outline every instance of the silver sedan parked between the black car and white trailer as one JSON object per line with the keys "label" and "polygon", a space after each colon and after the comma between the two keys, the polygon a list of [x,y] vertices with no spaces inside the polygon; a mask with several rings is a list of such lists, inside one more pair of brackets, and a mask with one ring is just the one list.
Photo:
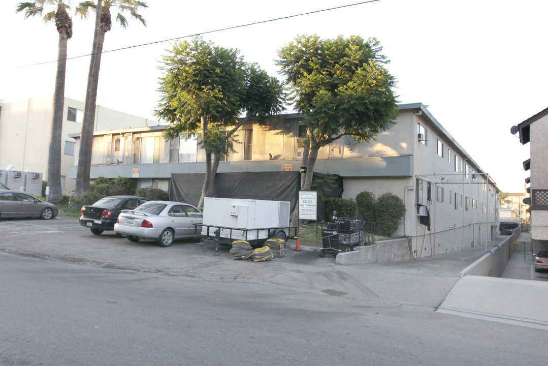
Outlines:
{"label": "silver sedan parked between the black car and white trailer", "polygon": [[122,210],[114,231],[130,241],[156,239],[160,246],[170,246],[174,239],[194,237],[194,224],[202,223],[196,207],[173,201],[149,201],[133,210]]}

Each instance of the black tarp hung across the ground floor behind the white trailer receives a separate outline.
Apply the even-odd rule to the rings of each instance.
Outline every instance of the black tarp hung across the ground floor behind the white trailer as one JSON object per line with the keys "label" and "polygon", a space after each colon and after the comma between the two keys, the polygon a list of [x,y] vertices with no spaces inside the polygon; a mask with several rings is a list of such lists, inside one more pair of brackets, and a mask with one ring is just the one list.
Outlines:
{"label": "black tarp hung across the ground floor behind the white trailer", "polygon": [[[314,173],[314,176],[323,176]],[[338,177],[338,176],[337,176]],[[206,174],[172,173],[170,200],[197,205]],[[220,198],[289,201],[292,215],[297,207],[300,189],[299,172],[235,172],[215,175],[215,195]],[[338,177],[330,197],[340,197],[343,179]],[[325,219],[325,202],[318,200],[318,221]]]}

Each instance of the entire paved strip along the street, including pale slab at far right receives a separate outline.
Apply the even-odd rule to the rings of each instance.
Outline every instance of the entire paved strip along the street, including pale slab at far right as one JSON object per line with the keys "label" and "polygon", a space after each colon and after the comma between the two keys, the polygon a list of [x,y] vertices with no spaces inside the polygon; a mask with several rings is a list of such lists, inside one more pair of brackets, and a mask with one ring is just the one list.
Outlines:
{"label": "entire paved strip along the street, including pale slab at far right", "polygon": [[[452,314],[475,314],[548,329],[544,311],[548,284],[479,276],[460,280],[459,273],[485,254],[484,247],[419,260],[350,266],[335,264],[333,256],[319,257],[317,251],[286,249],[282,258],[253,262],[233,260],[227,246],[220,246],[216,256],[213,244],[204,247],[196,239],[177,240],[170,247],[160,247],[153,240],[133,243],[117,238],[113,232],[94,235],[79,225],[78,218],[67,216],[49,221],[1,219],[0,238],[0,255],[175,278],[185,276],[206,283],[278,286],[290,292],[347,297],[375,306],[389,304],[432,311],[443,308]],[[514,296],[516,286],[524,294]],[[536,300],[532,301],[533,297]],[[500,313],[493,314],[491,309]]]}

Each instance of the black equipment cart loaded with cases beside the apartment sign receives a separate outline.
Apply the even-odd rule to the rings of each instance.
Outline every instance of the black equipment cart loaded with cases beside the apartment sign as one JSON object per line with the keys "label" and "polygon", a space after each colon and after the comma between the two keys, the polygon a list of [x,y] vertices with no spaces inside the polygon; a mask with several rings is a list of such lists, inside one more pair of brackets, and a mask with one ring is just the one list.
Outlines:
{"label": "black equipment cart loaded with cases beside the apartment sign", "polygon": [[322,249],[319,256],[336,256],[341,252],[354,250],[363,244],[363,220],[357,218],[338,218],[331,222],[319,223],[322,228]]}

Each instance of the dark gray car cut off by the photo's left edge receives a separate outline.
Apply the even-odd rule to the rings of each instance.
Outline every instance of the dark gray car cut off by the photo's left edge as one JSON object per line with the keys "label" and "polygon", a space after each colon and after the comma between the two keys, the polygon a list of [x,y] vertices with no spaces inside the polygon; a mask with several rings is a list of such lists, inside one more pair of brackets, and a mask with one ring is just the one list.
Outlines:
{"label": "dark gray car cut off by the photo's left edge", "polygon": [[39,217],[44,220],[54,218],[59,211],[50,203],[32,194],[0,189],[0,217]]}

